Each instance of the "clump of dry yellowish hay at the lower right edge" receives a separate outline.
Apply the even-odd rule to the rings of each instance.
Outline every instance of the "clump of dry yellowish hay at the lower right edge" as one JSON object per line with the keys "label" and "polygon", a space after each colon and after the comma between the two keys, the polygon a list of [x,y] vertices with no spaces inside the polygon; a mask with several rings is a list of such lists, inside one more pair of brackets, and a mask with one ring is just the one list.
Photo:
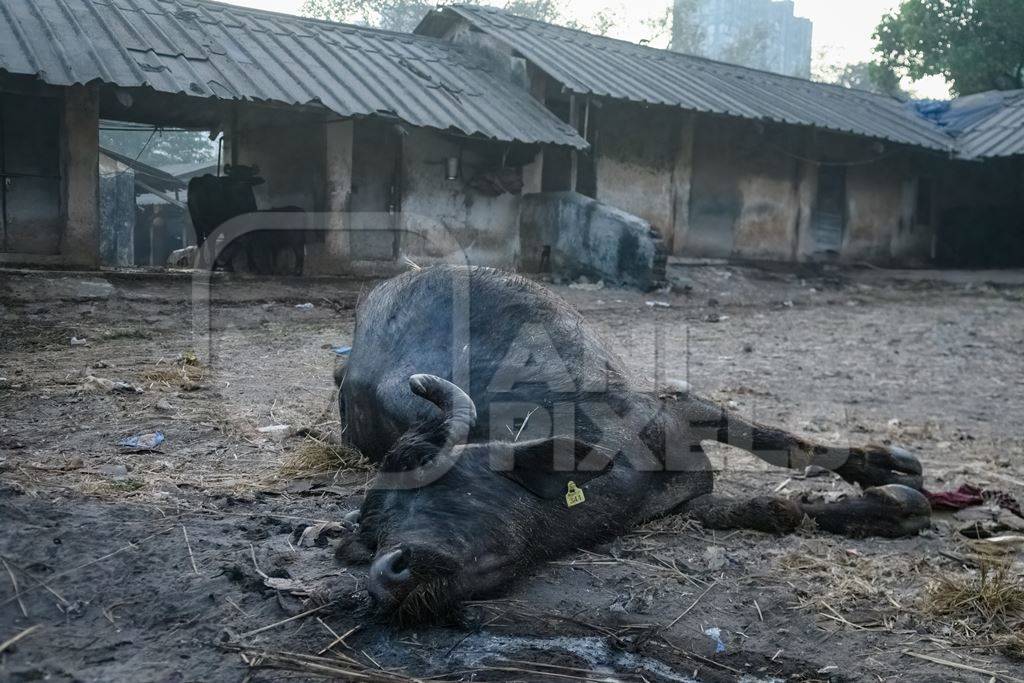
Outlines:
{"label": "clump of dry yellowish hay at the lower right edge", "polygon": [[954,624],[968,635],[1013,634],[1024,622],[1024,578],[1007,562],[982,562],[978,571],[939,574],[926,587],[922,607],[933,616],[956,617]]}

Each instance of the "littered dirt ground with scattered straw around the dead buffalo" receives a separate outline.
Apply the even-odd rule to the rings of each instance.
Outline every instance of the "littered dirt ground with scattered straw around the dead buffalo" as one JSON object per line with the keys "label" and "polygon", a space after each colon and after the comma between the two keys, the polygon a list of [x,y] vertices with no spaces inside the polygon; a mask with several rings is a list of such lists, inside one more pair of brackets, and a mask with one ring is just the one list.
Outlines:
{"label": "littered dirt ground with scattered straw around the dead buffalo", "polygon": [[[899,443],[931,489],[1024,500],[1024,273],[672,274],[666,293],[554,288],[638,377],[813,438]],[[0,680],[1024,680],[1007,598],[1024,549],[958,532],[987,508],[900,541],[671,517],[567,549],[460,623],[375,623],[331,527],[302,533],[372,476],[307,471],[372,285],[218,276],[207,306],[184,273],[0,271]],[[726,493],[854,493],[714,457]],[[943,579],[984,567],[984,591],[998,563],[1005,601],[936,611]]]}

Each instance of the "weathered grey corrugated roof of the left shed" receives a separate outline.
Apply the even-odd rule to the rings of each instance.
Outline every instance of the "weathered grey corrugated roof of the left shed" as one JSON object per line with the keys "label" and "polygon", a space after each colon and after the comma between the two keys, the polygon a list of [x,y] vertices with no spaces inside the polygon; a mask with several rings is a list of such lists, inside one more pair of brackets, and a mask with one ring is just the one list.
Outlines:
{"label": "weathered grey corrugated roof of the left shed", "polygon": [[208,0],[0,0],[0,70],[586,146],[472,48]]}

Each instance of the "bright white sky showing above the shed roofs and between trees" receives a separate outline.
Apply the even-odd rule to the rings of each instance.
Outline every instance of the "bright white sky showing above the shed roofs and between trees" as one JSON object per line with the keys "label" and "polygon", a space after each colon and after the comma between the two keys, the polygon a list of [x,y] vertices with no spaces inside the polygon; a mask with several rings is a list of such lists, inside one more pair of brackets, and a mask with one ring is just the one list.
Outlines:
{"label": "bright white sky showing above the shed roofs and between trees", "polygon": [[[303,0],[222,0],[236,5],[270,9],[298,14]],[[871,58],[871,34],[882,16],[899,4],[899,0],[795,0],[796,14],[814,23],[815,60],[827,65],[847,65]],[[567,0],[568,13],[586,20],[594,12],[615,10],[614,36],[626,40],[641,40],[649,31],[643,19],[663,14],[671,0]],[[659,45],[664,46],[664,45]],[[919,97],[948,97],[949,89],[941,78],[926,79],[918,83],[904,83],[905,88]]]}

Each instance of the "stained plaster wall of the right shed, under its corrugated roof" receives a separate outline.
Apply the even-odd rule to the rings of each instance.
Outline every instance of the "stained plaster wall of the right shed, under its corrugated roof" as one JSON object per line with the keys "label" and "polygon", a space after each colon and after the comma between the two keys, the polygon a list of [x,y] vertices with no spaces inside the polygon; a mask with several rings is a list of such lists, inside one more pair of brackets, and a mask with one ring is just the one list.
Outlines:
{"label": "stained plaster wall of the right shed, under its corrugated roof", "polygon": [[937,161],[927,153],[628,103],[606,103],[599,126],[598,200],[650,222],[674,254],[818,258],[812,219],[826,162],[847,173],[842,260],[931,256],[934,229],[915,219],[918,178]]}

